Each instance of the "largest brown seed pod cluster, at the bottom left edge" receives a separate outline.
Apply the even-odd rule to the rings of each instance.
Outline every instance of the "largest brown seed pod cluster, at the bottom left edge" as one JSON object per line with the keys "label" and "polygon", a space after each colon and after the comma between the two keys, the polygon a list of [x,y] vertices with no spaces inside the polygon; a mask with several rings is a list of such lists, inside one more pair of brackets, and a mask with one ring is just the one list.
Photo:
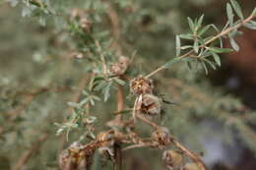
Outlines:
{"label": "largest brown seed pod cluster, at the bottom left edge", "polygon": [[60,170],[84,170],[91,166],[95,149],[85,150],[79,142],[62,151],[59,156]]}

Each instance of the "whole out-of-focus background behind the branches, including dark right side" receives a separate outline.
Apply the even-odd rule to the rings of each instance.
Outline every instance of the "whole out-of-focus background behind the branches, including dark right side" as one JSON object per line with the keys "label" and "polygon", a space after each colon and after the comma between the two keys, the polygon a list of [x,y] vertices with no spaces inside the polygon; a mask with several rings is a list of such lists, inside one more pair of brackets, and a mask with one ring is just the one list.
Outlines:
{"label": "whole out-of-focus background behind the branches, including dark right side", "polygon": [[[119,43],[123,53],[129,56],[137,51],[136,71],[131,75],[150,73],[173,56],[174,35],[188,31],[188,16],[204,14],[205,25],[213,23],[218,28],[226,22],[225,0],[125,2],[111,3],[121,26]],[[52,2],[66,15],[73,8],[86,9],[86,3]],[[246,15],[256,6],[255,0],[239,3]],[[70,113],[67,102],[81,87],[88,62],[73,57],[78,45],[62,18],[46,19],[46,26],[40,26],[38,18],[22,17],[25,13],[21,4],[13,8],[1,1],[0,169],[58,169],[60,150],[78,140],[82,130],[72,131],[66,142],[65,135],[56,136],[54,123],[64,122]],[[96,30],[108,30],[104,12],[99,14]],[[208,76],[177,64],[154,78],[158,93],[177,103],[164,106],[160,124],[189,148],[202,153],[212,170],[256,169],[256,31],[241,30],[243,34],[235,38],[240,51],[224,54],[222,67]],[[227,41],[224,45],[229,46]],[[107,106],[97,103],[96,125],[110,120],[103,111],[113,109],[113,101],[110,98]],[[147,134],[146,127],[141,130]],[[134,149],[125,153],[125,169],[164,169],[160,160],[157,150]]]}

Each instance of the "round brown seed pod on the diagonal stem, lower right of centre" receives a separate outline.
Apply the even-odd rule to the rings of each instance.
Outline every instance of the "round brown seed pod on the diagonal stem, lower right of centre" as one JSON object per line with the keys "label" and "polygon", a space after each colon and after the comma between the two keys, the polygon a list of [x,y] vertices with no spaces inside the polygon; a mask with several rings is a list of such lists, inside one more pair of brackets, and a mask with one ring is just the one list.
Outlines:
{"label": "round brown seed pod on the diagonal stem, lower right of centre", "polygon": [[168,129],[160,127],[157,131],[153,132],[152,140],[158,142],[160,146],[166,146],[170,142]]}

